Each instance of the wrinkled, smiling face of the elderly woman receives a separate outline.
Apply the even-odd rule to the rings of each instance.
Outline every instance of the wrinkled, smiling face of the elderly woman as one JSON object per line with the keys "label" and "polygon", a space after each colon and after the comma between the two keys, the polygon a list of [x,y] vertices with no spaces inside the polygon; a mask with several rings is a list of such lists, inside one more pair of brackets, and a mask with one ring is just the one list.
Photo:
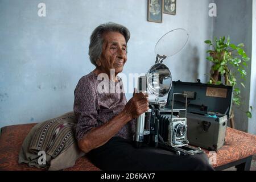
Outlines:
{"label": "wrinkled, smiling face of the elderly woman", "polygon": [[110,69],[115,70],[115,75],[123,71],[127,60],[125,37],[119,32],[108,32],[103,35],[104,43],[100,59],[97,60],[98,68],[110,74]]}

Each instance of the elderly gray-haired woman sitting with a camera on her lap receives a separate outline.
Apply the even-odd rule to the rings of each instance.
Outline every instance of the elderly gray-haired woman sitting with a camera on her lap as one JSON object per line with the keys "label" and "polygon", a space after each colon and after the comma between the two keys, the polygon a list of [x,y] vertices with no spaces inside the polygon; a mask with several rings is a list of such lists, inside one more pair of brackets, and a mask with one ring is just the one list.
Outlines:
{"label": "elderly gray-haired woman sitting with a camera on her lap", "polygon": [[[212,170],[204,154],[178,156],[146,144],[139,149],[133,146],[135,118],[149,108],[147,94],[134,93],[127,102],[117,76],[127,61],[129,38],[129,30],[115,23],[101,24],[90,37],[89,56],[96,68],[75,89],[80,149],[104,170]],[[106,76],[102,79],[102,75]],[[115,92],[100,92],[102,80],[115,85]],[[108,91],[108,86],[104,89]]]}

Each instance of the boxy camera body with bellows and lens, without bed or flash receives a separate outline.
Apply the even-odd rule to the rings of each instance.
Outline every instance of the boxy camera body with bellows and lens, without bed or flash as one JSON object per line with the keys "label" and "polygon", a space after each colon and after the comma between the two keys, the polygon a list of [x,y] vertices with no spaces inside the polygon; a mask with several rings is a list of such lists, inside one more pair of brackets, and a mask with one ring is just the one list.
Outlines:
{"label": "boxy camera body with bellows and lens, without bed or flash", "polygon": [[186,146],[187,118],[180,118],[179,110],[172,114],[172,110],[165,109],[164,105],[150,104],[149,107],[150,110],[140,118],[143,121],[137,122],[137,147],[139,148],[142,142],[158,147],[159,140],[170,147]]}

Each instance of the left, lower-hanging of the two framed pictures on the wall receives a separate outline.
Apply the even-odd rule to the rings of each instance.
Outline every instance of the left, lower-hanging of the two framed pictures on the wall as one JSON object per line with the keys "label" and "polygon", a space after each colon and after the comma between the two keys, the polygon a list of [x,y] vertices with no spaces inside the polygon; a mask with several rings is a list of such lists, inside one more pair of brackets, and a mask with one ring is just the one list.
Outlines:
{"label": "left, lower-hanging of the two framed pictures on the wall", "polygon": [[149,22],[163,22],[163,1],[148,0],[147,20]]}

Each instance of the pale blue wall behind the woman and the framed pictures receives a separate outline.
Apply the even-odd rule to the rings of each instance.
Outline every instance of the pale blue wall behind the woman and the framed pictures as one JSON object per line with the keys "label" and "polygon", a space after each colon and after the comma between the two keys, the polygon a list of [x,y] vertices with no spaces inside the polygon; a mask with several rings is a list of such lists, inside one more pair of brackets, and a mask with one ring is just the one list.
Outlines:
{"label": "pale blue wall behind the woman and the framed pictures", "polygon": [[[38,16],[40,2],[46,3],[46,17]],[[179,0],[177,15],[164,14],[163,23],[152,23],[147,22],[147,0],[0,0],[0,127],[71,111],[77,81],[94,69],[88,59],[89,36],[105,22],[131,31],[126,74],[147,72],[158,39],[185,28],[187,46],[166,64],[174,80],[206,81],[210,2]]]}

